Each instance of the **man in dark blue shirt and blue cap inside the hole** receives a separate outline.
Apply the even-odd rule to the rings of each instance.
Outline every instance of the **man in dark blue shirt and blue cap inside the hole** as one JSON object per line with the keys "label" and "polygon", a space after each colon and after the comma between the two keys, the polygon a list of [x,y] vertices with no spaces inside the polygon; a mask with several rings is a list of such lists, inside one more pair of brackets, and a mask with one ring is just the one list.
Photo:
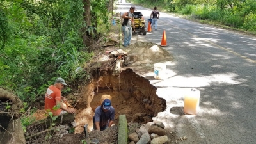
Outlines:
{"label": "man in dark blue shirt and blue cap inside the hole", "polygon": [[111,106],[111,100],[105,99],[101,106],[95,109],[95,115],[93,116],[93,129],[100,131],[111,127],[115,119],[115,108]]}

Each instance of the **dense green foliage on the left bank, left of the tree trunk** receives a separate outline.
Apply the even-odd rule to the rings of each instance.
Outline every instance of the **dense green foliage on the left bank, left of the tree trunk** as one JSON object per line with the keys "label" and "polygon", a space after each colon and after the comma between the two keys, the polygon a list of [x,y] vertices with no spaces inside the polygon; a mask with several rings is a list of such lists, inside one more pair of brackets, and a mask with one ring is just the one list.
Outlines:
{"label": "dense green foliage on the left bank, left of the tree trunk", "polygon": [[77,67],[93,56],[82,39],[81,28],[86,26],[83,1],[29,0],[1,4],[0,86],[30,103],[44,97],[45,90],[55,80],[52,77],[70,79],[67,83],[88,77],[84,71],[76,72]]}

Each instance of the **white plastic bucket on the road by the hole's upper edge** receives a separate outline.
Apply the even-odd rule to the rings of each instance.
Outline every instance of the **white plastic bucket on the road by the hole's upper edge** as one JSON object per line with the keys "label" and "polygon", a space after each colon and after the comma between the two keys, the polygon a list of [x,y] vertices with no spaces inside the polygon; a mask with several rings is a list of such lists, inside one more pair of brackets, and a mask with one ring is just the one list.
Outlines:
{"label": "white plastic bucket on the road by the hole's upper edge", "polygon": [[164,63],[155,63],[154,64],[154,78],[155,79],[164,79],[165,78],[166,64]]}

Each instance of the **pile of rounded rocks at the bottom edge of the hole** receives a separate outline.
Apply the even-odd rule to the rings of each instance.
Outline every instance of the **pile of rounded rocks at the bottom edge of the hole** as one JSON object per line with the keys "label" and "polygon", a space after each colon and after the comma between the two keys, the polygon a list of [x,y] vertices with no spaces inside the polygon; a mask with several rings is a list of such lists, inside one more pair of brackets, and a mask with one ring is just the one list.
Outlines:
{"label": "pile of rounded rocks at the bottom edge of the hole", "polygon": [[140,126],[136,132],[129,134],[129,144],[163,144],[168,141],[167,132],[162,122],[156,122],[150,127]]}

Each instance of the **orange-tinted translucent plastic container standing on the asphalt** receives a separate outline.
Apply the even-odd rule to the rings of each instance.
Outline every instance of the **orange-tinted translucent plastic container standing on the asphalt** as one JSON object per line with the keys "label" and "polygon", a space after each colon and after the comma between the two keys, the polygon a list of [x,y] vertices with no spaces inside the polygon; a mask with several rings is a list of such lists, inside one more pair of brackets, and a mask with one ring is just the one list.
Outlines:
{"label": "orange-tinted translucent plastic container standing on the asphalt", "polygon": [[189,115],[196,115],[199,110],[200,91],[191,88],[186,92],[184,97],[184,113]]}

